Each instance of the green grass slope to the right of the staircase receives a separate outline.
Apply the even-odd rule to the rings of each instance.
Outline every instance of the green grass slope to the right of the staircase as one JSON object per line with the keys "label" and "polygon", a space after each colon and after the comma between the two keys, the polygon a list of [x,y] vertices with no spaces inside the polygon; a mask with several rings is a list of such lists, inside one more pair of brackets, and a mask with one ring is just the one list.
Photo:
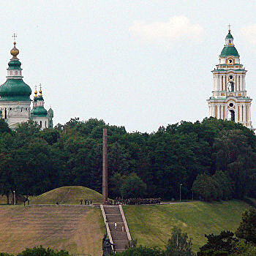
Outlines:
{"label": "green grass slope to the right of the staircase", "polygon": [[231,200],[220,203],[181,203],[157,206],[123,206],[132,238],[145,246],[165,247],[173,225],[192,237],[193,250],[206,243],[205,234],[234,231],[247,203]]}

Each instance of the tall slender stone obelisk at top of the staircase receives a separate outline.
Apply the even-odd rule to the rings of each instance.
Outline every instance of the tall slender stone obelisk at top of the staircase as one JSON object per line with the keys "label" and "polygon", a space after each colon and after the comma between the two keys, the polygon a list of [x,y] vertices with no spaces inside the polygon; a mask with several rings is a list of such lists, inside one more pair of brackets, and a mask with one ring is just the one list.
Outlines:
{"label": "tall slender stone obelisk at top of the staircase", "polygon": [[102,156],[102,195],[103,204],[108,203],[108,151],[107,129],[103,129],[103,156]]}

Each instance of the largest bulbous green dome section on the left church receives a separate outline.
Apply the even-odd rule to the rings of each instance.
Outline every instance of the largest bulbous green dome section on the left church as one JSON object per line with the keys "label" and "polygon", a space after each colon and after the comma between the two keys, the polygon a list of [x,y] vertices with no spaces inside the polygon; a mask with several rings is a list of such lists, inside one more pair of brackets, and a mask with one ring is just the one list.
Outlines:
{"label": "largest bulbous green dome section on the left church", "polygon": [[0,100],[4,101],[31,101],[30,87],[22,79],[7,79],[0,86]]}

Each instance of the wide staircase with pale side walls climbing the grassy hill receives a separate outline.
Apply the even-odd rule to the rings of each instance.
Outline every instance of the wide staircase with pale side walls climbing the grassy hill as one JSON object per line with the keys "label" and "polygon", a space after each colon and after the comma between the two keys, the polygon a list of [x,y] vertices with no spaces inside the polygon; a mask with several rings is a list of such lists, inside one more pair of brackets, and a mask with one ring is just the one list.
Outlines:
{"label": "wide staircase with pale side walls climbing the grassy hill", "polygon": [[[119,206],[103,206],[115,252],[122,252],[129,239]],[[117,224],[115,227],[115,223]],[[128,230],[129,233],[129,230]]]}

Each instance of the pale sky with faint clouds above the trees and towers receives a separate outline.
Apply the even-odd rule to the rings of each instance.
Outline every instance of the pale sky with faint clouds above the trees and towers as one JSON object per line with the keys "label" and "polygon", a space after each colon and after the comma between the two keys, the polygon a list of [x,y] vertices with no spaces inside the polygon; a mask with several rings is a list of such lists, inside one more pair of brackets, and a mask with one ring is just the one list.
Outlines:
{"label": "pale sky with faint clouds above the trees and towers", "polygon": [[256,1],[12,0],[0,10],[0,84],[16,33],[23,80],[42,84],[53,124],[98,118],[128,132],[208,116],[230,23],[256,126]]}

